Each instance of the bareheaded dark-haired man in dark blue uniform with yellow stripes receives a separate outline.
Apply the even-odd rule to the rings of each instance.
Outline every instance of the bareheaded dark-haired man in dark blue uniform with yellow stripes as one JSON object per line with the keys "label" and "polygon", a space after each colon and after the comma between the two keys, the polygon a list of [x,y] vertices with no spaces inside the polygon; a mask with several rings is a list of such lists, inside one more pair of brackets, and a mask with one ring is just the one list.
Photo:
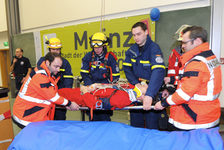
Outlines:
{"label": "bareheaded dark-haired man in dark blue uniform with yellow stripes", "polygon": [[130,111],[130,123],[135,127],[158,129],[161,112],[150,108],[165,75],[163,55],[159,46],[150,39],[144,23],[134,24],[132,34],[136,43],[126,52],[123,69],[129,83],[142,84],[141,81],[145,80],[148,81],[148,89],[145,96],[140,98],[143,110]]}

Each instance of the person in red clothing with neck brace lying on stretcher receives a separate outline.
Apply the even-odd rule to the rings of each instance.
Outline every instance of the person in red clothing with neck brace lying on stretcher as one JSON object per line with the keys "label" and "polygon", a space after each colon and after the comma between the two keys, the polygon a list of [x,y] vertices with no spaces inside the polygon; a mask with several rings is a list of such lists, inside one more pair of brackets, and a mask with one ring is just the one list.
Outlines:
{"label": "person in red clothing with neck brace lying on stretcher", "polygon": [[81,86],[81,88],[62,88],[58,90],[58,93],[82,107],[113,110],[141,102],[147,88],[147,84],[123,88],[119,85],[95,83],[90,86]]}

